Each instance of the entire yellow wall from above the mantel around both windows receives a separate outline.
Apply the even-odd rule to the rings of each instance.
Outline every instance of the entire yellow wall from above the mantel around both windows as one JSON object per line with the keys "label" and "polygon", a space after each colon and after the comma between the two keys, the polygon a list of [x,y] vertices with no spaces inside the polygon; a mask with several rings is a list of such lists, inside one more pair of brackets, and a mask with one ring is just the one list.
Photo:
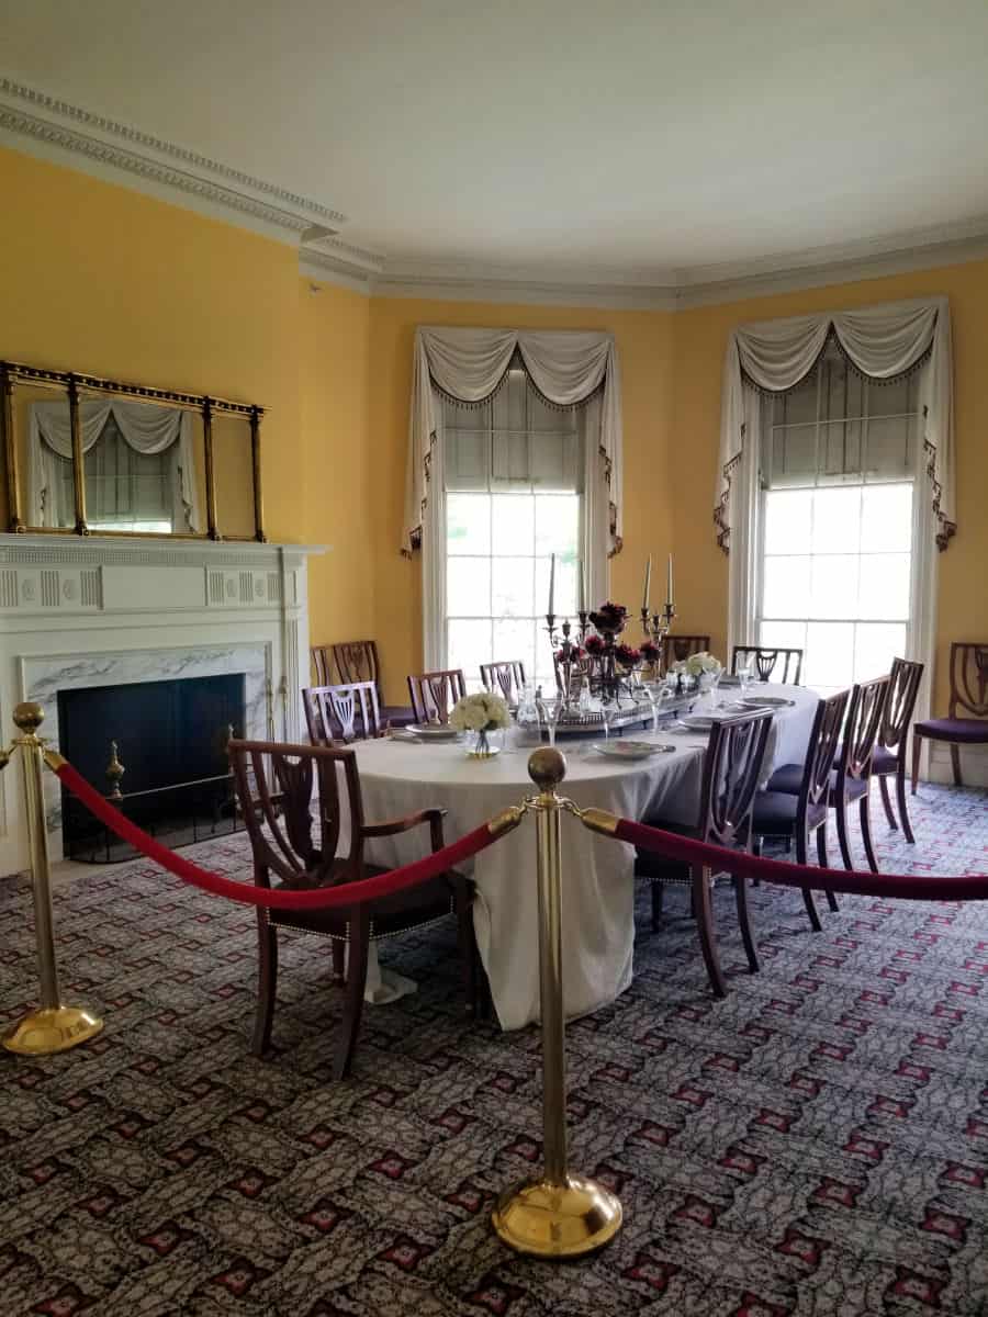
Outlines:
{"label": "entire yellow wall from above the mantel around both windows", "polygon": [[269,536],[332,544],[311,560],[312,640],[374,635],[391,701],[422,660],[420,564],[399,554],[418,324],[614,332],[624,552],[613,593],[635,607],[645,556],[661,581],[672,549],[678,628],[710,631],[722,651],[727,562],[711,507],[728,329],[946,292],[960,531],[941,558],[941,707],[948,640],[988,633],[988,262],[677,315],[368,299],[299,278],[290,246],[28,155],[0,151],[0,357],[263,404]]}

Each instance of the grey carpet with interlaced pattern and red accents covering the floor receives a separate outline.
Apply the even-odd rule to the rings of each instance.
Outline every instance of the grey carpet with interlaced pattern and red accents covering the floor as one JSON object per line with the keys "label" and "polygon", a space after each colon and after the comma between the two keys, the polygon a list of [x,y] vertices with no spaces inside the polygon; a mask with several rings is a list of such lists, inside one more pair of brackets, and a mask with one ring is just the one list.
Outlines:
{"label": "grey carpet with interlaced pattern and red accents covering the floor", "polygon": [[[880,863],[988,872],[988,798],[926,786]],[[242,839],[196,857],[242,872]],[[595,1258],[526,1260],[489,1226],[540,1160],[539,1038],[460,1011],[452,932],[387,963],[329,1081],[325,948],[283,939],[277,1059],[248,1054],[253,915],[133,863],[59,894],[63,979],[104,1034],[0,1060],[0,1310],[120,1317],[609,1317],[988,1312],[988,907],[843,902],[814,936],[761,888],[714,1004],[686,919],[632,989],[570,1026],[572,1164],[626,1223]],[[674,898],[673,898],[674,900]],[[0,1015],[33,1000],[28,893],[0,890]],[[71,986],[70,986],[71,985]]]}

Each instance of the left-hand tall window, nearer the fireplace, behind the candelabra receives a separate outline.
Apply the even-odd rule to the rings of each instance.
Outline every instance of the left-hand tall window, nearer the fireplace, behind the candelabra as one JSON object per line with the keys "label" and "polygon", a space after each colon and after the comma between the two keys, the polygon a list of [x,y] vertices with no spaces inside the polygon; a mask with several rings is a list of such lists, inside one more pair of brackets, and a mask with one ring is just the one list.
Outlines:
{"label": "left-hand tall window, nearer the fireplace, behind the candelabra", "polygon": [[520,658],[532,680],[555,684],[549,562],[555,553],[555,611],[573,616],[582,429],[582,412],[544,403],[520,367],[480,407],[444,404],[447,661],[473,689],[491,658]]}

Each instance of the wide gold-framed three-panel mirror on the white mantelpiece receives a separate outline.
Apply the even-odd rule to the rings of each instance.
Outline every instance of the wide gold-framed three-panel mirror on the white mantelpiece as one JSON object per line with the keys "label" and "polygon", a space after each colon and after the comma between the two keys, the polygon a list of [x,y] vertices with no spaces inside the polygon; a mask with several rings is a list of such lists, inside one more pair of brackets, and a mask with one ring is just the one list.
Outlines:
{"label": "wide gold-framed three-panel mirror on the white mantelpiece", "polygon": [[250,403],[0,362],[0,524],[263,541],[262,416]]}

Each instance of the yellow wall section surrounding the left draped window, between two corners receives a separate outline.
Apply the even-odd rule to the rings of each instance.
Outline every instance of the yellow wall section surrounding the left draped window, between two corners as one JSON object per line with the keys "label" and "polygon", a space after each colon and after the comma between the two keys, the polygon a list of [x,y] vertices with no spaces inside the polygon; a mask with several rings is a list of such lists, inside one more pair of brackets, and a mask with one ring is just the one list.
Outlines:
{"label": "yellow wall section surrounding the left draped window, between two corners", "polygon": [[[412,340],[415,327],[491,325],[524,329],[609,329],[620,357],[624,399],[624,552],[613,564],[611,593],[640,606],[644,560],[672,549],[669,423],[672,419],[673,317],[648,311],[502,306],[374,298],[370,306],[370,435],[375,453],[374,533],[377,637],[389,697],[422,664],[422,564],[399,556],[404,512]],[[656,568],[659,581],[665,577]]]}

